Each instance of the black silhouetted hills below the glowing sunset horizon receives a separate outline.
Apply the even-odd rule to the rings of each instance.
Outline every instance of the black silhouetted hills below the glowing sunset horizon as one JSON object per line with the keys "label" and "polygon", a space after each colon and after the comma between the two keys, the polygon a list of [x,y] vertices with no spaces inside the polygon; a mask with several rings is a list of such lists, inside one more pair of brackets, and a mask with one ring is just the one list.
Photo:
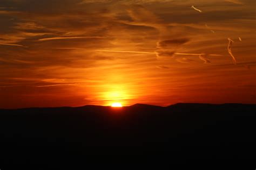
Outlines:
{"label": "black silhouetted hills below the glowing sunset horizon", "polygon": [[253,165],[255,112],[250,104],[190,103],[0,110],[0,168]]}

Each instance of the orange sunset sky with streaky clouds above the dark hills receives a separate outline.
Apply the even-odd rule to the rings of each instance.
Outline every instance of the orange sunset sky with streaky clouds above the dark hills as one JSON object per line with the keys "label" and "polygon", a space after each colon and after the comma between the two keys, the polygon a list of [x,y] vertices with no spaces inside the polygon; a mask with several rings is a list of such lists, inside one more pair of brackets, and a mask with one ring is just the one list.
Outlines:
{"label": "orange sunset sky with streaky clouds above the dark hills", "polygon": [[0,108],[256,103],[254,0],[1,0]]}

